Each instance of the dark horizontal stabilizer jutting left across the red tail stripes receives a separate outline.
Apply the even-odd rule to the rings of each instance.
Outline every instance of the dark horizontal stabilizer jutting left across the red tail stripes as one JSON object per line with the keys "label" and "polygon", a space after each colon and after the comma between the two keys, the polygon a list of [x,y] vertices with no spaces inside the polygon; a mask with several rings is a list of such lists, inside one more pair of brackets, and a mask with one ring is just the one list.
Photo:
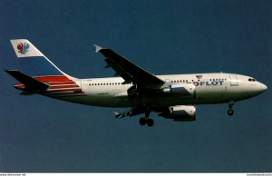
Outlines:
{"label": "dark horizontal stabilizer jutting left across the red tail stripes", "polygon": [[20,83],[23,83],[26,87],[26,89],[31,91],[44,91],[46,90],[49,85],[47,83],[42,83],[38,80],[35,80],[34,78],[21,73],[16,70],[5,70],[6,73],[9,73],[11,76],[13,76],[16,80],[18,80]]}

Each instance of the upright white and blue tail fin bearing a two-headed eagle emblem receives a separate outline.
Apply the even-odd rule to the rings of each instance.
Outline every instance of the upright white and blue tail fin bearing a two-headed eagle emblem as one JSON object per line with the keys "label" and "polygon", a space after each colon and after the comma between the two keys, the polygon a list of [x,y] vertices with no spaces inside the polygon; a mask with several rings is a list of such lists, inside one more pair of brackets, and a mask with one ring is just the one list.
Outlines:
{"label": "upright white and blue tail fin bearing a two-headed eagle emblem", "polygon": [[[44,56],[35,46],[26,39],[10,41],[15,54],[22,66],[23,73],[30,76],[65,75],[57,66]],[[70,77],[70,76],[69,76]]]}

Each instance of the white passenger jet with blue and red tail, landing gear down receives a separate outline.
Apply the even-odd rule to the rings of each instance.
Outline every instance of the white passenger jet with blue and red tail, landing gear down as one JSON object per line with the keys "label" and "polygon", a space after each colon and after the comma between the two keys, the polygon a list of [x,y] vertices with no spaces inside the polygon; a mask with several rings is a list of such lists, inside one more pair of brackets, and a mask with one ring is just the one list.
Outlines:
{"label": "white passenger jet with blue and red tail, landing gear down", "polygon": [[237,73],[189,73],[155,75],[133,64],[111,49],[94,44],[105,56],[106,66],[115,77],[74,78],[63,73],[27,39],[10,41],[24,72],[5,70],[19,83],[23,95],[38,93],[54,99],[102,107],[129,107],[114,112],[117,119],[144,114],[140,124],[153,126],[151,112],[175,122],[195,121],[195,104],[234,103],[264,93],[267,86],[251,76]]}

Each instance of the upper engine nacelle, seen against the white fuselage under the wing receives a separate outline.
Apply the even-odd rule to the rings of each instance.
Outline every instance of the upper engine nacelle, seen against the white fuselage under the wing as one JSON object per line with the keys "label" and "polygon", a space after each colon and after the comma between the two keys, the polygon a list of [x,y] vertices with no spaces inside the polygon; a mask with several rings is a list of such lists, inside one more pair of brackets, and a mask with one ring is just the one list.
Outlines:
{"label": "upper engine nacelle, seen against the white fuselage under the wing", "polygon": [[194,98],[196,86],[193,83],[171,84],[170,87],[162,89],[162,93],[182,98]]}

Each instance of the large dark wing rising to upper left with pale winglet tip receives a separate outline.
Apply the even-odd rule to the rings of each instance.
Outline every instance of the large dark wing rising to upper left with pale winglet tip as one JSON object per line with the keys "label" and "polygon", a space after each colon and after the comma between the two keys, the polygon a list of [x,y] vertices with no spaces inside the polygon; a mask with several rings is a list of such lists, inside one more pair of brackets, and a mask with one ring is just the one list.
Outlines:
{"label": "large dark wing rising to upper left with pale winglet tip", "polygon": [[94,47],[96,53],[100,52],[106,57],[106,68],[112,67],[116,74],[125,80],[124,83],[132,82],[150,89],[158,89],[165,83],[157,76],[131,63],[131,61],[122,57],[120,54],[116,54],[111,49],[105,49],[95,44]]}

